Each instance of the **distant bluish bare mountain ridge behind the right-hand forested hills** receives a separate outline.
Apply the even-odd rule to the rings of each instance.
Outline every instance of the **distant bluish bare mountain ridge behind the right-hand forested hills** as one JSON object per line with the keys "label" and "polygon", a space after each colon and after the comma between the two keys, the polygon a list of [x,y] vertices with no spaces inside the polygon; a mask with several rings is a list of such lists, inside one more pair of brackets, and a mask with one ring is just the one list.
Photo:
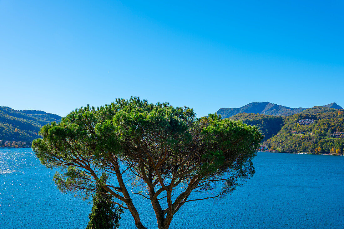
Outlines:
{"label": "distant bluish bare mountain ridge behind the right-hand forested hills", "polygon": [[[333,102],[321,107],[333,108],[333,109],[343,109],[337,103]],[[273,116],[289,116],[292,114],[301,113],[309,108],[291,108],[276,103],[270,102],[251,102],[245,106],[239,108],[220,108],[216,113],[221,114],[222,118],[229,118],[238,113],[254,113],[254,114],[266,114]]]}

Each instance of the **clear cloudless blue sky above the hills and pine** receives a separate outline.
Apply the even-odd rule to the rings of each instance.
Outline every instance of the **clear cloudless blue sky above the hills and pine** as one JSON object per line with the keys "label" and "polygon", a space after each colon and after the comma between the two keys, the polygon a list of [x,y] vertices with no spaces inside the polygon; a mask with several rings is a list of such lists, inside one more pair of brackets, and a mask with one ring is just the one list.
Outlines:
{"label": "clear cloudless blue sky above the hills and pine", "polygon": [[0,0],[0,106],[344,106],[344,1]]}

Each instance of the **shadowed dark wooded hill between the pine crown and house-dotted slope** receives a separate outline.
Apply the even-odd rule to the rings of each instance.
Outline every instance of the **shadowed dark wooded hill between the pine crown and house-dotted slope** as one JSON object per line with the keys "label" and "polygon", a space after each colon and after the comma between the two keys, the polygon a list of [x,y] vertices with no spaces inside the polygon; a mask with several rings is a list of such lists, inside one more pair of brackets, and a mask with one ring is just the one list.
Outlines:
{"label": "shadowed dark wooded hill between the pine crown and house-dotted slope", "polygon": [[281,116],[240,113],[230,117],[229,119],[241,120],[247,125],[258,127],[258,130],[264,135],[264,140],[277,134],[283,126]]}

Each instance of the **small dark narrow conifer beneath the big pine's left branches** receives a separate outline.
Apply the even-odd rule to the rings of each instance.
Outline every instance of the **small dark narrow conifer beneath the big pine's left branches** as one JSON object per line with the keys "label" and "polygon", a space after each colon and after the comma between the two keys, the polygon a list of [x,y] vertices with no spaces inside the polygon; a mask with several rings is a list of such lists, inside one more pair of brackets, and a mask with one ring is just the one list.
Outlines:
{"label": "small dark narrow conifer beneath the big pine's left branches", "polygon": [[[101,180],[102,178],[104,176],[101,176]],[[118,229],[120,215],[124,211],[119,206],[115,208],[115,204],[109,201],[112,201],[112,196],[98,184],[97,192],[93,195],[93,207],[88,216],[90,220],[86,229]]]}

